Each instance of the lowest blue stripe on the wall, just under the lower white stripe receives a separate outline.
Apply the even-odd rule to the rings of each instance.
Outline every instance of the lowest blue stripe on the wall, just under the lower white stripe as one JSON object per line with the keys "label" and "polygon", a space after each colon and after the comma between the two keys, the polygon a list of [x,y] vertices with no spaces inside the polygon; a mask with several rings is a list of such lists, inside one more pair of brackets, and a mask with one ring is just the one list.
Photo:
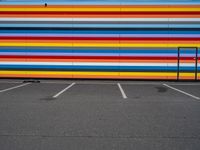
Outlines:
{"label": "lowest blue stripe on the wall, just under the lower white stripe", "polygon": [[[26,70],[26,71],[108,71],[108,72],[177,72],[177,67],[145,67],[145,66],[8,66],[1,65],[0,69],[3,70]],[[200,70],[200,68],[198,68]],[[180,67],[179,71],[182,72],[195,72],[195,67]]]}

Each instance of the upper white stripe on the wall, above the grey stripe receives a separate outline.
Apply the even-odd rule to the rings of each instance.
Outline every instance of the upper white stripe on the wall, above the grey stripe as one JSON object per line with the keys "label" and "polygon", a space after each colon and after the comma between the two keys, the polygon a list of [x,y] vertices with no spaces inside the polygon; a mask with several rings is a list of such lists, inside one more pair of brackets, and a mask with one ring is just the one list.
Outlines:
{"label": "upper white stripe on the wall, above the grey stripe", "polygon": [[200,21],[200,18],[0,18],[0,21]]}

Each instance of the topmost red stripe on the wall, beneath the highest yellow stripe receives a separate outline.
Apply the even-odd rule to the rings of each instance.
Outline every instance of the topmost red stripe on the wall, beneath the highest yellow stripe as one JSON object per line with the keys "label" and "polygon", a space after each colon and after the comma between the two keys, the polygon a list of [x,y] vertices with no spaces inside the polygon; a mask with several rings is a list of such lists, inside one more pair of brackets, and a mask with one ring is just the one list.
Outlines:
{"label": "topmost red stripe on the wall, beneath the highest yellow stripe", "polygon": [[49,11],[9,11],[4,12],[0,11],[1,15],[200,15],[200,11],[195,12],[66,12],[66,11],[59,11],[59,12],[49,12]]}

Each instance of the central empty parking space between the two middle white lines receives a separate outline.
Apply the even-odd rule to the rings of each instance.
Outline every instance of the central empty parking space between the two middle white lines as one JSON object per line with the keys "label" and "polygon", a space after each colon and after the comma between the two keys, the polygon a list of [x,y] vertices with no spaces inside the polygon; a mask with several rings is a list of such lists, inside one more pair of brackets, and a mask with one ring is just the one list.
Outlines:
{"label": "central empty parking space between the two middle white lines", "polygon": [[62,101],[109,102],[122,99],[116,84],[77,83],[59,97]]}

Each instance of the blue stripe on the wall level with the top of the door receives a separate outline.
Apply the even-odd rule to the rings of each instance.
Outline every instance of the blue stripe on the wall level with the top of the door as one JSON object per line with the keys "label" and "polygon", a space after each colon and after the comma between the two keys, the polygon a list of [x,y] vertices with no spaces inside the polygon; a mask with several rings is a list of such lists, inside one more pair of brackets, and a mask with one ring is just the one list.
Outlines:
{"label": "blue stripe on the wall level with the top of the door", "polygon": [[[27,55],[32,55],[32,54],[49,54],[49,55],[64,55],[64,54],[123,54],[123,55],[135,55],[135,56],[139,56],[139,55],[147,55],[147,56],[160,56],[160,55],[174,55],[174,54],[177,54],[177,50],[169,50],[169,51],[165,51],[165,50],[141,50],[139,51],[138,50],[123,50],[123,49],[113,49],[113,50],[106,50],[106,49],[102,49],[102,50],[95,50],[95,49],[66,49],[66,50],[59,50],[59,49],[50,49],[50,50],[45,50],[45,49],[16,49],[16,48],[13,48],[13,49],[4,49],[4,48],[1,48],[0,49],[0,53],[1,55],[4,55],[4,54],[16,54],[16,55],[19,55],[19,54],[25,54]],[[186,52],[184,52],[186,53]],[[192,54],[194,53],[193,51],[189,51],[187,52],[187,54]]]}

